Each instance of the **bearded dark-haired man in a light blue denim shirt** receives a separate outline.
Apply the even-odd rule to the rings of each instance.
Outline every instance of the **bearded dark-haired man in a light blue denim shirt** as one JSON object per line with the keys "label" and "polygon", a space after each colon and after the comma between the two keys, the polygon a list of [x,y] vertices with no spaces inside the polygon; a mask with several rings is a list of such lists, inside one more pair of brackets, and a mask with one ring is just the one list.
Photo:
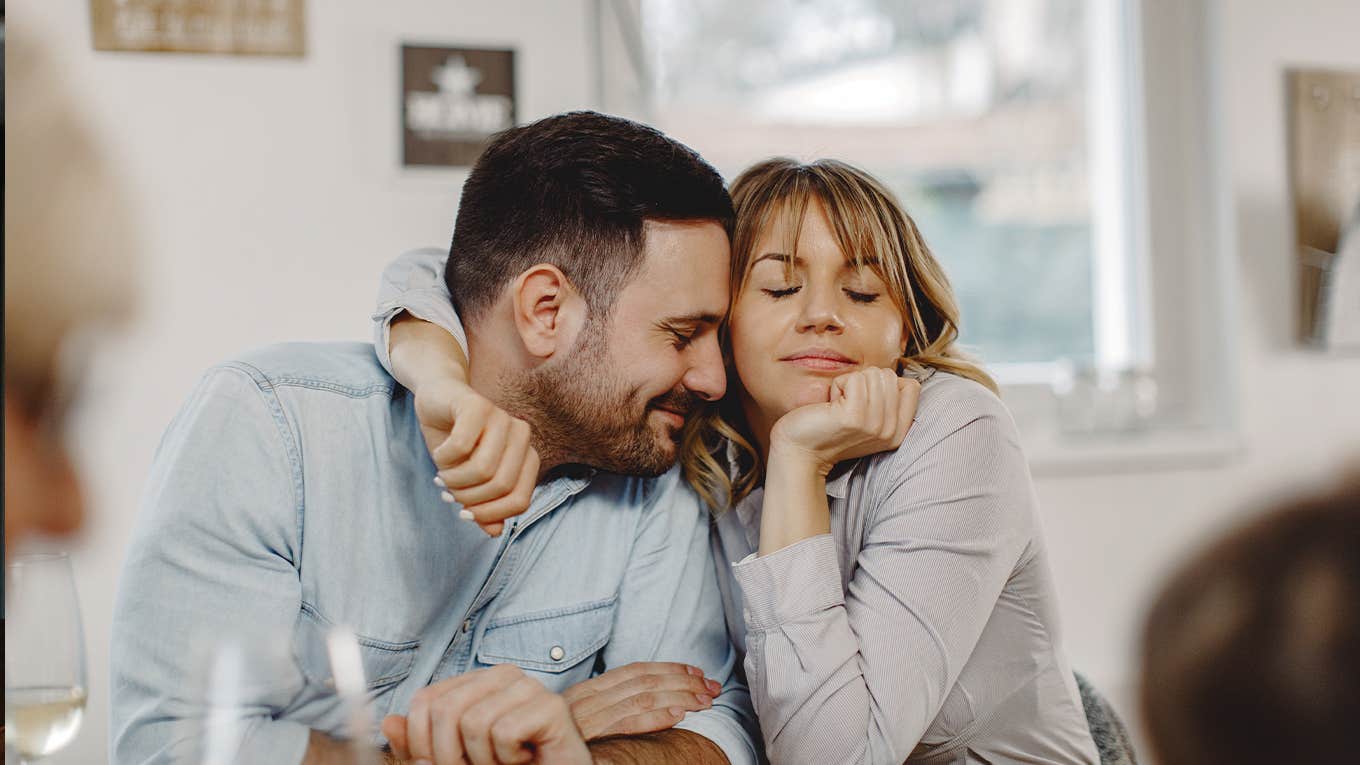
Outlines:
{"label": "bearded dark-haired man in a light blue denim shirt", "polygon": [[[724,392],[730,218],[710,166],[626,120],[564,114],[492,142],[450,271],[479,358],[462,400],[514,417],[454,423],[468,475],[432,481],[424,397],[366,344],[211,370],[160,446],[120,581],[114,760],[192,755],[196,647],[248,632],[291,660],[246,683],[238,760],[340,761],[325,634],[345,625],[373,708],[405,712],[384,731],[416,761],[755,761],[707,519],[665,472],[684,417]],[[551,436],[530,442],[530,425]],[[472,475],[507,451],[529,467]],[[477,519],[532,500],[490,536],[445,493]],[[677,664],[636,664],[656,660]],[[641,730],[661,732],[596,739]]]}

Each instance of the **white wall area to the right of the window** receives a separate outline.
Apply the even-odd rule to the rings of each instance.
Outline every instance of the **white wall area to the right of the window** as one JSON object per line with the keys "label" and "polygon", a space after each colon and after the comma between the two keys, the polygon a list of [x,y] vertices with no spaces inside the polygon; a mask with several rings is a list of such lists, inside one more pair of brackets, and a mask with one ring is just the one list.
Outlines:
{"label": "white wall area to the right of the window", "polygon": [[[1175,0],[1151,0],[1175,1]],[[1360,358],[1293,347],[1293,223],[1284,68],[1360,68],[1360,3],[1217,0],[1210,46],[1224,113],[1231,238],[1239,268],[1244,452],[1213,470],[1044,478],[1038,491],[1073,664],[1132,716],[1138,629],[1167,568],[1206,534],[1360,467]]]}

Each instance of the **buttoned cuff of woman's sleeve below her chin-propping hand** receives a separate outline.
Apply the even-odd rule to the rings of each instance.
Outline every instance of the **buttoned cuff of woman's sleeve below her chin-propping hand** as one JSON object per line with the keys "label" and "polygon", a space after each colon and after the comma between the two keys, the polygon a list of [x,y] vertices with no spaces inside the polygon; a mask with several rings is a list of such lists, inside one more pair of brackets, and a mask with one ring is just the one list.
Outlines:
{"label": "buttoned cuff of woman's sleeve below her chin-propping hand", "polygon": [[767,630],[845,604],[835,539],[819,534],[772,553],[732,564],[748,630]]}

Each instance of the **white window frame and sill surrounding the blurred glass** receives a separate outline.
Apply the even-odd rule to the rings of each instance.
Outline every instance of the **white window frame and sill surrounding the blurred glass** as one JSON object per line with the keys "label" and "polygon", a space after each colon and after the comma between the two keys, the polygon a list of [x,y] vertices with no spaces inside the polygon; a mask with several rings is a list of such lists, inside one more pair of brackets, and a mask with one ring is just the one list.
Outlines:
{"label": "white window frame and sill surrounding the blurred glass", "polygon": [[[1040,475],[1220,464],[1240,451],[1232,284],[1236,283],[1212,0],[1091,0],[1088,136],[1098,366],[1148,370],[1151,422],[1065,433],[1058,362],[989,365]],[[592,0],[594,95],[645,93],[639,0]],[[622,57],[631,72],[611,68]],[[631,75],[631,76],[630,76]],[[1099,75],[1099,76],[1096,76]],[[1118,132],[1110,129],[1118,127]]]}

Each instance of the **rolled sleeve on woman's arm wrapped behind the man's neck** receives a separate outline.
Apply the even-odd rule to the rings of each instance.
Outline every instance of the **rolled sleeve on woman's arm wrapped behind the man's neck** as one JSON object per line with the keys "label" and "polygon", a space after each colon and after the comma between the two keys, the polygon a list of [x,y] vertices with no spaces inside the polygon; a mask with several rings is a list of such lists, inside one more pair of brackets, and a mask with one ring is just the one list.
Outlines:
{"label": "rolled sleeve on woman's arm wrapped behind the man's neck", "polygon": [[[382,270],[378,306],[373,312],[373,348],[388,374],[392,374],[392,357],[388,354],[392,320],[403,310],[443,327],[468,355],[468,335],[443,280],[447,259],[449,253],[442,249],[420,248],[398,255]],[[472,357],[468,358],[471,361]]]}

